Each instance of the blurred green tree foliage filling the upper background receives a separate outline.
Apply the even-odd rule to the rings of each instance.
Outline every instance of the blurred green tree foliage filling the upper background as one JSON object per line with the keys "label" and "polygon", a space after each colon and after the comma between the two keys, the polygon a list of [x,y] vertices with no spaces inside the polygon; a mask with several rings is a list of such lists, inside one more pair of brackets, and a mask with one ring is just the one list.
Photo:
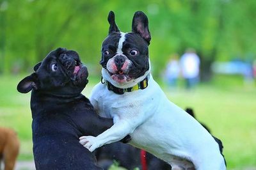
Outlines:
{"label": "blurred green tree foliage filling the upper background", "polygon": [[131,31],[134,12],[148,15],[155,73],[170,54],[188,47],[196,49],[207,70],[214,60],[256,53],[255,8],[254,0],[0,0],[0,73],[31,70],[57,47],[77,50],[84,63],[99,68],[110,10],[123,32]]}

